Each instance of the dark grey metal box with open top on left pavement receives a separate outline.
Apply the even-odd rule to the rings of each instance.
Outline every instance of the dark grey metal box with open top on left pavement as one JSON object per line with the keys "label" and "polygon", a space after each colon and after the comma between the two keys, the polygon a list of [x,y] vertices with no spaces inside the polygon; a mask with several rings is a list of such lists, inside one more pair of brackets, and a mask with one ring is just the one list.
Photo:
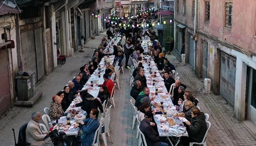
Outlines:
{"label": "dark grey metal box with open top on left pavement", "polygon": [[18,101],[28,101],[35,95],[35,71],[27,71],[29,76],[17,76]]}

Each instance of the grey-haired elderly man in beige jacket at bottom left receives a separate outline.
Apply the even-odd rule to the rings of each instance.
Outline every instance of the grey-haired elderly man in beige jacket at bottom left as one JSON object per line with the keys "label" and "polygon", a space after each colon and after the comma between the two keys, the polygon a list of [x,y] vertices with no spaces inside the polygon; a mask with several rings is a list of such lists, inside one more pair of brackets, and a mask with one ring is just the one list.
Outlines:
{"label": "grey-haired elderly man in beige jacket at bottom left", "polygon": [[42,119],[40,112],[33,112],[31,118],[26,128],[26,142],[30,143],[31,146],[53,146],[50,137],[44,139],[48,133],[43,131],[39,125]]}

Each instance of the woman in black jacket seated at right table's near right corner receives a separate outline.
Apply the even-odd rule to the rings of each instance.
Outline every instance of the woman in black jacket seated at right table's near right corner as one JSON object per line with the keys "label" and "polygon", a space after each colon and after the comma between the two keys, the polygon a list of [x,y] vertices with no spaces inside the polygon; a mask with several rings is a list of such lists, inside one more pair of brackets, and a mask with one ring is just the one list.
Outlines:
{"label": "woman in black jacket seated at right table's near right corner", "polygon": [[185,122],[189,137],[182,137],[184,146],[189,146],[189,142],[202,142],[207,131],[207,124],[203,112],[195,107],[191,110],[191,120]]}

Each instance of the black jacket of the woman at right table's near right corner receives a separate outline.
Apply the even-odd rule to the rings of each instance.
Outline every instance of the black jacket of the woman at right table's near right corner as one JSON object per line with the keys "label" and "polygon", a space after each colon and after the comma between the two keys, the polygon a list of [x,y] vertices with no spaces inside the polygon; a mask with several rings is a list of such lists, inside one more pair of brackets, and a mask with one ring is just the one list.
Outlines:
{"label": "black jacket of the woman at right table's near right corner", "polygon": [[201,112],[200,115],[196,116],[195,118],[191,118],[190,122],[191,125],[187,127],[189,137],[191,137],[195,142],[202,142],[207,131],[204,113]]}

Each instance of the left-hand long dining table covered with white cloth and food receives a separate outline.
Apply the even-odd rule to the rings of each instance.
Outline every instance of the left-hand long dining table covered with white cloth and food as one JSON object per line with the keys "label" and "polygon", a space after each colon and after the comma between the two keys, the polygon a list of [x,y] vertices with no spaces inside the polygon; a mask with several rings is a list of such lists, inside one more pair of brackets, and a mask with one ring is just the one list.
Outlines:
{"label": "left-hand long dining table covered with white cloth and food", "polygon": [[[102,58],[102,60],[99,63],[99,66],[91,75],[91,77],[88,79],[88,81],[86,82],[85,86],[82,88],[82,90],[88,90],[88,93],[91,94],[94,98],[98,97],[98,94],[100,92],[100,87],[98,87],[98,85],[103,84],[104,79],[103,79],[103,75],[105,73],[106,67],[105,67],[105,60],[108,58],[108,60],[111,60],[111,64],[113,64],[114,62],[114,55],[111,56],[104,56]],[[100,77],[98,75],[100,71]],[[91,81],[93,86],[91,86]],[[58,124],[56,124],[54,126],[54,129],[58,129],[59,131],[64,131],[66,133],[66,135],[78,135],[79,132],[79,128],[74,129],[74,125],[76,124],[77,121],[85,119],[85,116],[87,115],[87,113],[81,109],[81,107],[72,107],[72,105],[76,104],[76,103],[80,103],[82,102],[81,97],[78,96],[74,99],[74,101],[72,101],[72,103],[69,105],[69,107],[67,108],[67,110],[65,111],[65,113],[68,113],[68,111],[74,111],[77,112],[79,114],[82,114],[81,118],[76,118],[76,116],[74,116],[73,118],[70,117],[70,127],[67,127],[67,125],[65,124],[67,122],[67,116],[62,116],[61,118],[59,118],[58,120]],[[50,121],[51,123],[56,123],[56,121]],[[49,122],[49,123],[50,123]],[[64,123],[64,124],[63,124]],[[67,128],[68,129],[67,129]],[[66,129],[65,129],[66,128]]]}

